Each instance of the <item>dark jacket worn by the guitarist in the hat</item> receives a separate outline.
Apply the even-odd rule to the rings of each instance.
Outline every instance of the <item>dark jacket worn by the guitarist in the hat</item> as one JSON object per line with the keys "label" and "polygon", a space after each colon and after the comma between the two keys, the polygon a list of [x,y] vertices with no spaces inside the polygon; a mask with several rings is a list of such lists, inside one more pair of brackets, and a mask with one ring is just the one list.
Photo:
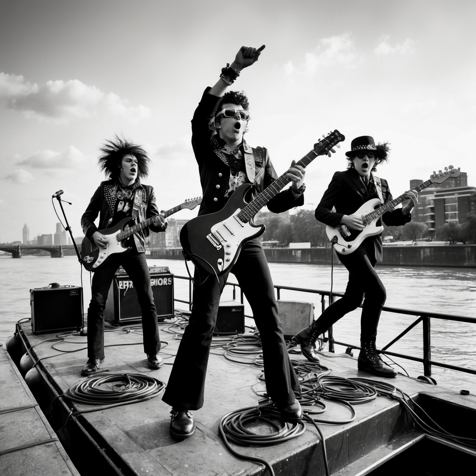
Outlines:
{"label": "dark jacket worn by the guitarist in the hat", "polygon": [[[380,182],[384,203],[393,200],[387,180],[381,178]],[[352,215],[371,198],[378,198],[377,189],[372,183],[370,191],[367,191],[357,170],[347,169],[345,172],[336,172],[319,205],[317,205],[316,218],[326,225],[337,227],[344,215]],[[332,211],[333,207],[336,209],[335,212]],[[382,215],[382,218],[387,226],[405,225],[411,220],[411,213],[403,215],[402,209],[397,208],[387,211]],[[381,220],[378,219],[377,226],[380,225]],[[368,237],[364,243],[366,243],[368,249],[372,249],[373,244],[377,262],[382,261],[382,238],[380,235]]]}

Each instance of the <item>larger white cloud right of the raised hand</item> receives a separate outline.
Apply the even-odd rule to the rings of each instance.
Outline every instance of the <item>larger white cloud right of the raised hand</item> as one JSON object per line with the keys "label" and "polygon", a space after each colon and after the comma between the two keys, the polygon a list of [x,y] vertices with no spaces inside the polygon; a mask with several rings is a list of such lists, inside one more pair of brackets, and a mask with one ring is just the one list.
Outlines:
{"label": "larger white cloud right of the raised hand", "polygon": [[289,76],[294,73],[310,75],[316,73],[319,67],[335,64],[351,68],[359,59],[359,55],[354,52],[355,45],[349,33],[322,38],[319,43],[315,52],[304,55],[304,63],[300,68],[296,68],[292,61],[288,61],[284,65],[285,72]]}

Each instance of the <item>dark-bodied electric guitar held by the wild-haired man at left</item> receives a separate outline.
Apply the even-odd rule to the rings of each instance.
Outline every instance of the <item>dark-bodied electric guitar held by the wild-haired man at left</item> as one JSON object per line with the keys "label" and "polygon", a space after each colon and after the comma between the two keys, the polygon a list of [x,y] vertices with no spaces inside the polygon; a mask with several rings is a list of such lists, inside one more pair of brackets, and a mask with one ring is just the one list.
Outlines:
{"label": "dark-bodied electric guitar held by the wild-haired man at left", "polygon": [[[182,208],[193,210],[201,202],[201,197],[188,198],[180,205],[177,205],[177,207],[170,208],[169,210],[162,211],[161,213],[167,218],[170,215],[177,213]],[[133,227],[126,228],[127,224],[133,219],[132,217],[128,217],[119,221],[119,223],[111,228],[98,230],[99,233],[106,235],[108,238],[108,244],[106,245],[106,248],[99,248],[98,245],[94,243],[94,241],[90,241],[88,238],[84,237],[83,241],[81,242],[81,262],[84,268],[87,271],[96,271],[111,255],[128,251],[130,247],[124,246],[123,241],[141,229],[152,225],[156,217],[157,215],[148,218],[147,220],[141,221]]]}

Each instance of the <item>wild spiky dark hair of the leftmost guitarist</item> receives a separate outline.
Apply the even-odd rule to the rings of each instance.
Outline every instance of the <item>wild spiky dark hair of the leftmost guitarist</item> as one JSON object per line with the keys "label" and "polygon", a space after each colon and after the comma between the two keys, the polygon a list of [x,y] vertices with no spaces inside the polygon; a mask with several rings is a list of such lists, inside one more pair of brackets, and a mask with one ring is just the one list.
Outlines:
{"label": "wild spiky dark hair of the leftmost guitarist", "polygon": [[123,157],[127,154],[133,155],[137,159],[137,176],[138,178],[147,177],[149,175],[150,159],[147,152],[141,146],[134,144],[132,141],[120,138],[117,134],[115,139],[106,140],[106,143],[99,149],[103,155],[99,157],[99,165],[101,171],[104,170],[106,177],[119,177],[120,164]]}

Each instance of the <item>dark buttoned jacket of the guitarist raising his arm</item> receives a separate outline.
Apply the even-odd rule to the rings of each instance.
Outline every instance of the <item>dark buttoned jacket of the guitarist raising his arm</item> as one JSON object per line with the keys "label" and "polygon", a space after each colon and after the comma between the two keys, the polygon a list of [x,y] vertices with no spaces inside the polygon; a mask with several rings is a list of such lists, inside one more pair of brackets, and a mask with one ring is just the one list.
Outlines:
{"label": "dark buttoned jacket of the guitarist raising his arm", "polygon": [[[211,88],[205,89],[202,99],[192,119],[192,147],[198,163],[200,183],[203,190],[203,199],[198,215],[205,215],[221,210],[226,203],[225,193],[228,190],[230,168],[225,158],[220,158],[219,150],[225,142],[213,138],[213,131],[208,123],[215,115],[218,102],[221,98],[208,93]],[[247,147],[245,145],[245,147]],[[262,192],[278,175],[269,159],[268,150],[264,147],[253,148],[255,157],[255,170],[258,175],[259,169],[265,168],[264,174],[258,176],[254,187]],[[221,154],[223,156],[223,154]],[[304,204],[304,195],[295,199],[290,188],[282,190],[274,198],[269,200],[268,209],[274,213],[281,213],[293,207]]]}

